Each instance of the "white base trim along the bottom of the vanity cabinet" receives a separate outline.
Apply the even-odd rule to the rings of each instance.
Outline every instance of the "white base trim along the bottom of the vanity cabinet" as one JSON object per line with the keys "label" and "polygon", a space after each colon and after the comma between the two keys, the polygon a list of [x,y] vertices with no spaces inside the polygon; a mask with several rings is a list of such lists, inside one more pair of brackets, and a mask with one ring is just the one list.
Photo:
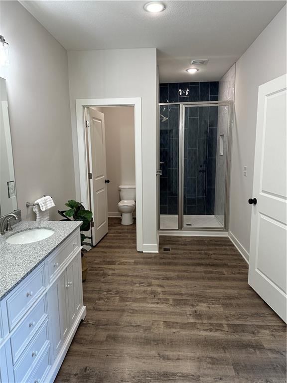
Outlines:
{"label": "white base trim along the bottom of the vanity cabinet", "polygon": [[47,377],[45,378],[45,382],[49,382],[49,383],[52,383],[54,382],[54,380],[56,379],[56,376],[60,370],[60,367],[62,366],[62,363],[65,359],[65,356],[69,350],[69,347],[72,343],[72,340],[76,334],[76,331],[78,330],[78,327],[79,327],[79,324],[81,323],[82,320],[85,319],[85,316],[86,316],[86,306],[83,306],[81,308],[81,311],[78,315],[78,318],[77,320],[74,322],[74,325],[73,327],[71,328],[70,330],[70,333],[69,335],[67,336],[66,340],[65,340],[65,343],[64,345],[62,346],[62,349],[61,351],[59,352],[59,354],[57,355],[53,365],[52,365],[52,368],[51,370],[49,371]]}

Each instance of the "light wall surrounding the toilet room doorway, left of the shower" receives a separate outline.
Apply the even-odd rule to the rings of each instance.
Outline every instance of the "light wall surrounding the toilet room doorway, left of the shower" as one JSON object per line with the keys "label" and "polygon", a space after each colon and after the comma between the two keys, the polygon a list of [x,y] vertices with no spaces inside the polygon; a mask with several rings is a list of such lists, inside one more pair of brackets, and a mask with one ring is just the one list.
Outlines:
{"label": "light wall surrounding the toilet room doorway, left of the shower", "polygon": [[75,100],[142,98],[143,250],[155,250],[157,248],[156,49],[69,51],[68,63],[78,196],[79,172],[84,170],[78,169]]}

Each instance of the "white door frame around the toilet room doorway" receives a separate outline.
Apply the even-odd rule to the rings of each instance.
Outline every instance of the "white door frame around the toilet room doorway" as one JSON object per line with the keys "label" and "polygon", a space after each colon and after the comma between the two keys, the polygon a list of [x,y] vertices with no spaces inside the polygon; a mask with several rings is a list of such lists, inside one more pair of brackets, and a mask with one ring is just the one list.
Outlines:
{"label": "white door frame around the toilet room doorway", "polygon": [[[142,160],[142,98],[88,98],[76,99],[77,155],[79,159],[80,199],[89,205],[88,154],[86,150],[85,111],[87,107],[133,106],[135,113],[135,161],[136,161],[136,217],[137,251],[143,251],[143,160]],[[75,167],[77,172],[77,168]]]}

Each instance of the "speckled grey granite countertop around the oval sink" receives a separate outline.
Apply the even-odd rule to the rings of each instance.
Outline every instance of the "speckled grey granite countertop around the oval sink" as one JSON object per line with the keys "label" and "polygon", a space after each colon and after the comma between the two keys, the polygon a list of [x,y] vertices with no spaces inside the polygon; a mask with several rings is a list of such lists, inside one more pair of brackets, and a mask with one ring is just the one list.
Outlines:
{"label": "speckled grey granite countertop around the oval sink", "polygon": [[[0,235],[0,300],[81,224],[81,221],[21,221],[13,226],[11,233]],[[6,242],[10,235],[35,228],[53,229],[55,232],[38,242],[21,245]]]}

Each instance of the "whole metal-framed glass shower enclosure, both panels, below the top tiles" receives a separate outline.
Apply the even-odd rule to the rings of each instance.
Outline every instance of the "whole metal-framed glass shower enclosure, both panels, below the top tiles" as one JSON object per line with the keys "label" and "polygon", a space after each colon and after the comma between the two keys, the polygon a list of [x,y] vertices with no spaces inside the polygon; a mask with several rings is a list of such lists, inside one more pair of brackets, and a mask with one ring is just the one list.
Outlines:
{"label": "whole metal-framed glass shower enclosure, both panels, below the top tiles", "polygon": [[159,228],[228,229],[232,102],[159,104]]}

